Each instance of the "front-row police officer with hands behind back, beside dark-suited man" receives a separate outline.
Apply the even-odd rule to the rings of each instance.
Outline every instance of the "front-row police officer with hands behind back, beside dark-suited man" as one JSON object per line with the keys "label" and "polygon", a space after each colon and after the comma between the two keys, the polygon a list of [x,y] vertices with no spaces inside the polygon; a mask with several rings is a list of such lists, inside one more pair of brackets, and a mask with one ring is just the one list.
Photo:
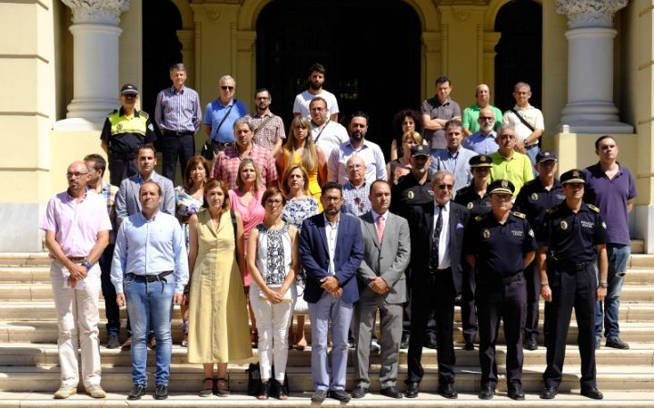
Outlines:
{"label": "front-row police officer with hands behind back, beside dark-suited man", "polygon": [[477,216],[466,233],[466,260],[477,268],[477,310],[480,324],[481,391],[490,400],[497,386],[495,343],[500,319],[507,344],[509,397],[523,400],[522,325],[527,302],[523,271],[536,254],[536,239],[524,214],[511,212],[515,187],[509,180],[489,186],[492,211]]}

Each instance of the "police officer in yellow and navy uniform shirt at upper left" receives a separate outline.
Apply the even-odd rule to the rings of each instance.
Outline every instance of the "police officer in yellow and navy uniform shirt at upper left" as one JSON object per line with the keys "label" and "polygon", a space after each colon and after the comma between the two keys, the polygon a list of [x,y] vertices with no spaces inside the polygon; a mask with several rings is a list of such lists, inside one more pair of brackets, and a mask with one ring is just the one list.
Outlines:
{"label": "police officer in yellow and navy uniform shirt at upper left", "polygon": [[158,130],[150,116],[135,108],[138,89],[125,83],[120,93],[121,108],[104,120],[100,134],[101,146],[109,156],[109,180],[114,186],[132,177],[136,169],[136,152],[139,146],[157,140]]}

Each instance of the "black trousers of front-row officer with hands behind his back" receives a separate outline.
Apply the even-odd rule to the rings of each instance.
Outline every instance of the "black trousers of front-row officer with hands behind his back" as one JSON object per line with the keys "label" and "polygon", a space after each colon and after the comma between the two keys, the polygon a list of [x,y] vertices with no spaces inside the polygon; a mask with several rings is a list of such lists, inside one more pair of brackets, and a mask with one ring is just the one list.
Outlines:
{"label": "black trousers of front-row officer with hands behind his back", "polygon": [[[481,271],[481,274],[484,272]],[[524,277],[503,283],[499,279],[480,278],[477,286],[479,317],[481,387],[495,389],[498,382],[495,345],[500,321],[504,322],[507,345],[506,372],[509,387],[522,384],[522,327],[527,306]]]}

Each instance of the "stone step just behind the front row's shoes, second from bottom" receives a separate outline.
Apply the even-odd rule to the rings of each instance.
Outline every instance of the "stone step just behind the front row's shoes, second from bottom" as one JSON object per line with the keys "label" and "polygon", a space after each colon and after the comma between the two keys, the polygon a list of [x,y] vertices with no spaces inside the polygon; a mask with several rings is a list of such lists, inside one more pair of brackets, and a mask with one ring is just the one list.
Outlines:
{"label": "stone step just behind the front row's shoes, second from bottom", "polygon": [[[246,365],[230,365],[228,379],[230,388],[234,392],[243,393],[247,389],[248,374]],[[438,387],[438,370],[435,365],[424,367],[425,374],[421,381],[421,390],[434,393]],[[530,366],[523,371],[522,386],[525,392],[537,393],[542,389],[542,372],[544,365]],[[104,367],[102,385],[109,392],[127,393],[132,388],[131,367]],[[152,366],[148,368],[152,373]],[[371,390],[379,389],[379,365],[371,366]],[[480,388],[479,368],[471,366],[457,366],[456,388],[461,393],[477,393]],[[503,368],[498,367],[498,391],[506,390],[506,378]],[[566,365],[563,370],[563,380],[560,384],[561,392],[578,390],[580,387],[580,366]],[[294,392],[311,391],[312,375],[310,367],[288,367],[289,386]],[[195,393],[202,382],[204,374],[201,364],[179,365],[171,364],[169,388],[175,392]],[[406,378],[406,366],[401,366],[398,373],[398,388],[404,389],[403,380]],[[152,375],[151,375],[152,379]],[[54,391],[59,385],[59,367],[15,366],[2,367],[0,372],[0,391]],[[355,375],[352,368],[348,368],[347,389],[352,389]],[[654,367],[633,366],[598,366],[597,382],[600,390],[606,391],[654,391]]]}

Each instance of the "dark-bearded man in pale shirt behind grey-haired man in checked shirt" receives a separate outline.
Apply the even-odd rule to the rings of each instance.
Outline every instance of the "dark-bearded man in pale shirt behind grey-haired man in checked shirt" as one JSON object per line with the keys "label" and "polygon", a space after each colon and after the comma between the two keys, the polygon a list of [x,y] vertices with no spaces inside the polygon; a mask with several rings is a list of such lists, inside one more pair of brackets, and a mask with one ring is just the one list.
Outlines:
{"label": "dark-bearded man in pale shirt behind grey-haired man in checked shirt", "polygon": [[366,163],[365,180],[372,185],[374,180],[386,180],[386,162],[377,143],[366,141],[368,131],[368,115],[354,112],[350,117],[350,141],[332,151],[327,162],[327,180],[339,184],[348,182],[347,160],[358,156]]}

